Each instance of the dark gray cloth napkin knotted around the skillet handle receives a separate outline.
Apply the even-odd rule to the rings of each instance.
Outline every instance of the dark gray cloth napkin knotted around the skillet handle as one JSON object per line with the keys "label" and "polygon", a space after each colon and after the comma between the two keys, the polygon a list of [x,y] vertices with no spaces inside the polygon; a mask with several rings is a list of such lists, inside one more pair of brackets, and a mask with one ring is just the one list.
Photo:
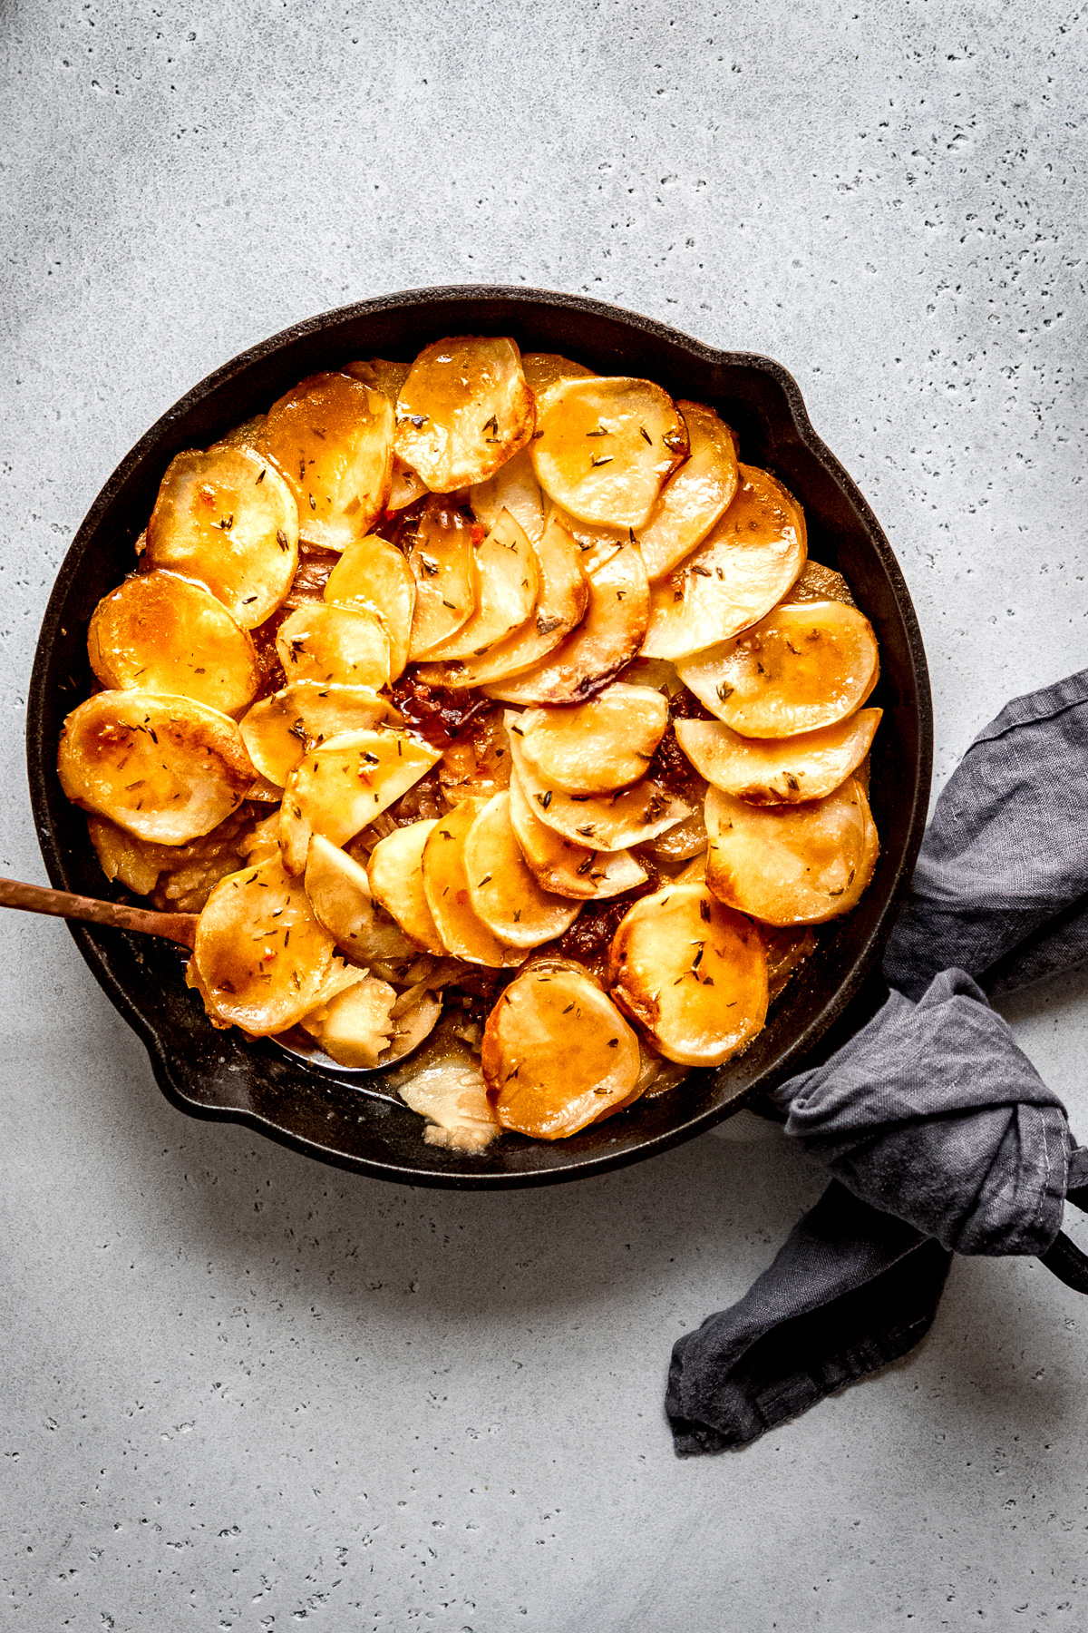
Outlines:
{"label": "dark gray cloth napkin knotted around the skillet handle", "polygon": [[882,1008],[773,1092],[835,1177],[744,1298],[674,1346],[679,1455],[747,1445],[905,1355],[953,1253],[1036,1254],[1088,1292],[1060,1235],[1067,1197],[1088,1207],[1088,1150],[987,1001],[1083,959],[1088,670],[974,740],[927,830]]}

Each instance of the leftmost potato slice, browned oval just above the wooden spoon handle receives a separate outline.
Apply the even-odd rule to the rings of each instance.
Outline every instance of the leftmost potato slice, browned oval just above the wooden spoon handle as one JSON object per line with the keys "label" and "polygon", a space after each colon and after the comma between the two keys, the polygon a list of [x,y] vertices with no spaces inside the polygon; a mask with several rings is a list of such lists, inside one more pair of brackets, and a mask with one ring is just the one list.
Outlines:
{"label": "leftmost potato slice, browned oval just above the wooden spoon handle", "polygon": [[241,805],[253,766],[230,715],[192,697],[95,692],[64,722],[60,787],[140,839],[188,844]]}

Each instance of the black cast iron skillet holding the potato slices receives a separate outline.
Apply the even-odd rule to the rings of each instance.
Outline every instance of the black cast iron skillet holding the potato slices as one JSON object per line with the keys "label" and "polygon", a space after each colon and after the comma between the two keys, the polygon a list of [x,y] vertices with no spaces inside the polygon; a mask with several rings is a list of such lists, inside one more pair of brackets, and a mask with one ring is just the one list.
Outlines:
{"label": "black cast iron skillet holding the potato slices", "polygon": [[[820,934],[752,1048],[700,1071],[657,1101],[636,1104],[571,1140],[506,1135],[480,1155],[429,1146],[422,1120],[388,1076],[354,1083],[302,1065],[271,1043],[217,1032],[181,980],[183,955],[150,937],[72,924],[96,980],[145,1043],[166,1097],[192,1117],[248,1124],[341,1168],[416,1186],[501,1189],[600,1174],[666,1151],[796,1071],[842,1022],[874,970],[905,890],[925,823],[931,763],[930,686],[918,624],[892,550],[856,487],[812,431],[801,392],[768,358],[713,351],[649,318],[540,289],[453,287],[382,296],[326,312],[253,346],[181,398],[121,462],[75,536],[46,609],[28,707],[29,785],[54,885],[103,895],[83,815],[57,782],[65,714],[88,696],[86,624],[134,565],[170,459],[206,447],[269,407],[307,374],[351,358],[413,358],[444,335],[512,335],[524,351],[559,351],[602,374],[657,380],[675,397],[713,403],[741,436],[742,457],[765,465],[804,505],[814,560],[840,568],[881,643],[873,704],[884,720],[873,753],[876,877],[855,908]],[[848,1021],[847,1021],[848,1024]],[[840,1029],[837,1029],[840,1030]],[[405,1070],[405,1068],[391,1068]]]}

